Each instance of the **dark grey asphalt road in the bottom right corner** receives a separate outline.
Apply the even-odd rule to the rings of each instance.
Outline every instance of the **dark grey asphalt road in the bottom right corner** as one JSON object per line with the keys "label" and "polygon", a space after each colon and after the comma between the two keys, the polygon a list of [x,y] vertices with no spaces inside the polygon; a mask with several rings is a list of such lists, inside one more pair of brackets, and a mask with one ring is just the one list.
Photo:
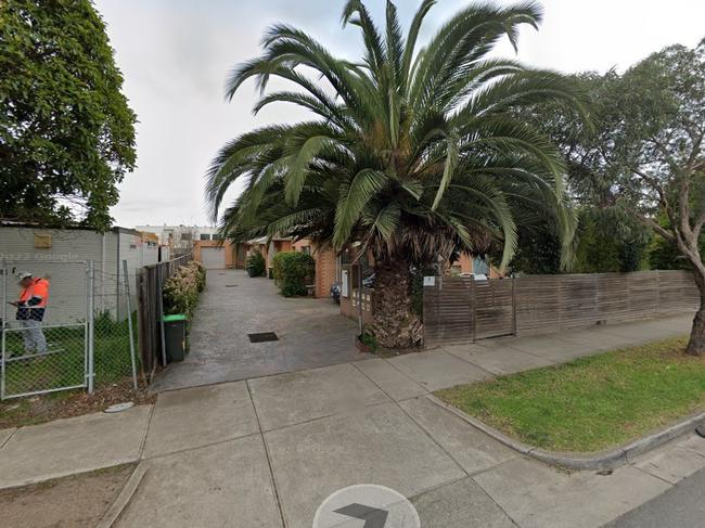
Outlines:
{"label": "dark grey asphalt road in the bottom right corner", "polygon": [[701,469],[605,528],[703,528],[704,499],[705,469]]}

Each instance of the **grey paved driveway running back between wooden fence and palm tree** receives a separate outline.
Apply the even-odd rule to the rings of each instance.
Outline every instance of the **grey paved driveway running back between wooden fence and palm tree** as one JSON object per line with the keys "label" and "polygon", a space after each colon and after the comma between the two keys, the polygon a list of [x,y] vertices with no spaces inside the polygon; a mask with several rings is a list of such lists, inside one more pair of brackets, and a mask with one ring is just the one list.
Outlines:
{"label": "grey paved driveway running back between wooden fence and palm tree", "polygon": [[[269,279],[243,270],[209,270],[191,327],[191,352],[168,366],[154,390],[234,382],[361,359],[356,323],[331,299],[279,295]],[[275,342],[247,334],[274,332]]]}

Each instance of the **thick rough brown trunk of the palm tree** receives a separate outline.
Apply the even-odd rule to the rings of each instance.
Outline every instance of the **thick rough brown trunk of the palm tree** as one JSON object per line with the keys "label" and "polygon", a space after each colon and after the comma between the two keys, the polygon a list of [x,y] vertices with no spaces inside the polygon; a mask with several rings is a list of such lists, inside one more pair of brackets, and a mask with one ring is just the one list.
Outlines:
{"label": "thick rough brown trunk of the palm tree", "polygon": [[421,345],[423,323],[411,312],[411,272],[409,262],[392,260],[374,268],[372,333],[385,348],[410,348]]}

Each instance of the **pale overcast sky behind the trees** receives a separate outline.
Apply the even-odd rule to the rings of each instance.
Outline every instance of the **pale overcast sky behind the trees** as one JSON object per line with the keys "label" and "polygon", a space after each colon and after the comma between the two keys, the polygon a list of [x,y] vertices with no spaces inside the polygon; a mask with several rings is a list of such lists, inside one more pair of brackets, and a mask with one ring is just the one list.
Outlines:
{"label": "pale overcast sky behind the trees", "polygon": [[[465,0],[439,0],[426,18],[424,43]],[[510,2],[502,2],[510,3]],[[252,83],[223,101],[235,64],[259,53],[265,28],[294,24],[334,53],[357,56],[355,27],[341,29],[343,0],[95,0],[107,24],[124,90],[137,112],[138,168],[120,185],[118,226],[207,224],[204,172],[229,139],[267,123],[300,118],[272,105],[253,117]],[[382,20],[382,0],[369,0]],[[418,0],[398,0],[408,25]],[[563,72],[619,69],[664,46],[705,37],[703,0],[544,0],[540,30],[526,29],[518,59]],[[509,46],[502,48],[512,55]]]}

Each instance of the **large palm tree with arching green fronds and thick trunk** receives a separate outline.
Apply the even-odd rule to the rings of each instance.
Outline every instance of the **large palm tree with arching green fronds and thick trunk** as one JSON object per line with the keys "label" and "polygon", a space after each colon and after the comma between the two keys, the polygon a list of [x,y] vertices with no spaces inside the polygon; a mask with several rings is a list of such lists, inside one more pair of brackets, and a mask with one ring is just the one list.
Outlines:
{"label": "large palm tree with arching green fronds and thick trunk", "polygon": [[[336,249],[358,242],[371,250],[372,330],[387,347],[409,346],[416,334],[411,265],[499,245],[504,267],[515,250],[517,221],[546,219],[562,236],[567,261],[575,227],[559,152],[518,117],[548,100],[584,112],[573,85],[489,56],[503,37],[516,47],[521,25],[537,27],[539,7],[472,4],[416,50],[434,4],[421,2],[405,37],[392,1],[381,31],[364,4],[349,0],[343,25],[361,30],[360,63],[336,59],[294,27],[272,26],[262,54],[230,75],[227,96],[255,78],[261,90],[255,113],[286,102],[312,117],[235,138],[207,175],[215,218],[230,185],[246,179],[223,214],[223,232],[232,239],[287,233]],[[266,94],[271,77],[296,89]]]}

